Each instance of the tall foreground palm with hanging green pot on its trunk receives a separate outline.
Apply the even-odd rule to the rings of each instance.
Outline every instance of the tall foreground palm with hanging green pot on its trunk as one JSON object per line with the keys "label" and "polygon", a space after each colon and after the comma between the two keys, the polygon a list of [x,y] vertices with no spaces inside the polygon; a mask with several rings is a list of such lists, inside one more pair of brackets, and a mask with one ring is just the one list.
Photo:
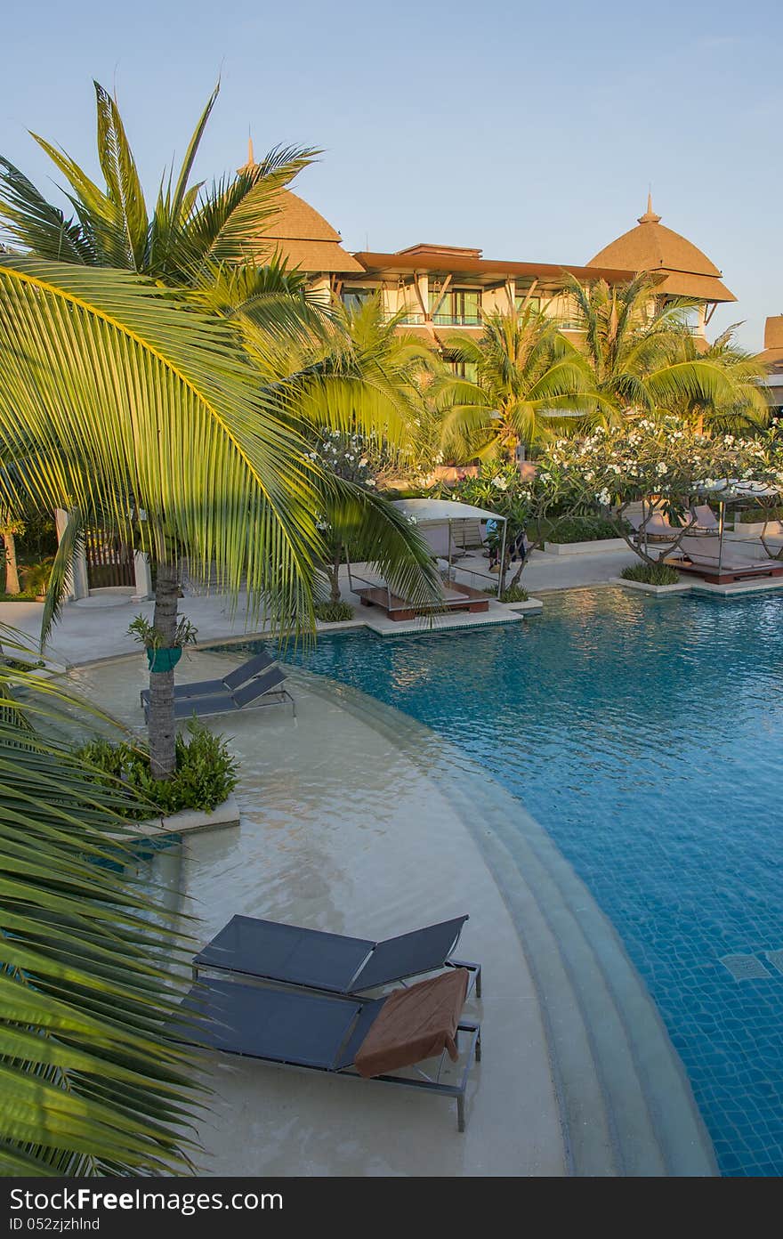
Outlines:
{"label": "tall foreground palm with hanging green pot on its trunk", "polygon": [[[36,374],[47,367],[59,367],[61,377],[71,374],[85,436],[81,444],[74,435],[79,415],[71,431],[56,419],[58,437],[38,439],[24,468],[27,498],[78,513],[52,574],[52,590],[66,579],[63,559],[78,544],[79,522],[109,522],[156,565],[154,628],[164,647],[173,644],[183,554],[204,575],[214,561],[221,586],[234,597],[247,576],[252,606],[266,606],[278,624],[311,626],[320,546],[316,496],[327,489],[339,493],[354,515],[362,508],[379,564],[406,577],[406,587],[421,591],[422,600],[432,597],[435,576],[415,532],[375,497],[320,476],[306,460],[297,429],[317,410],[323,424],[353,422],[377,431],[378,410],[388,413],[388,401],[378,401],[373,384],[363,385],[356,364],[337,373],[321,366],[266,385],[254,372],[270,342],[322,331],[322,315],[301,281],[280,264],[259,273],[253,260],[280,190],[313,152],[276,149],[207,191],[190,185],[216,89],[182,167],[176,178],[170,172],[161,180],[150,212],[116,104],[97,83],[95,97],[105,190],[69,156],[36,138],[72,187],[72,218],[48,203],[19,169],[0,161],[0,219],[16,243],[47,260],[2,260],[6,346],[17,330],[30,338],[30,356],[10,362],[12,383],[30,378],[31,367]],[[104,270],[93,276],[93,268]],[[149,276],[156,289],[131,284],[118,269]],[[193,305],[190,313],[161,287],[181,290]],[[72,323],[63,315],[66,305],[73,307]],[[45,307],[56,325],[48,331],[38,320],[41,333],[32,338],[33,321]],[[100,337],[97,358],[90,332]],[[76,353],[63,361],[66,337]],[[77,363],[74,369],[78,357],[82,368]],[[46,373],[42,385],[64,411],[68,398],[62,387],[55,392],[55,375]],[[110,408],[102,409],[107,395]],[[30,409],[30,399],[22,399],[20,410],[25,406]],[[32,410],[30,415],[35,420]],[[38,425],[43,431],[40,419]],[[390,436],[399,429],[385,422],[380,427]],[[10,441],[20,453],[27,451],[19,424]],[[103,472],[95,475],[97,468]],[[140,513],[144,519],[138,519]],[[57,612],[52,596],[45,618]],[[150,752],[154,773],[170,777],[173,670],[151,675]]]}

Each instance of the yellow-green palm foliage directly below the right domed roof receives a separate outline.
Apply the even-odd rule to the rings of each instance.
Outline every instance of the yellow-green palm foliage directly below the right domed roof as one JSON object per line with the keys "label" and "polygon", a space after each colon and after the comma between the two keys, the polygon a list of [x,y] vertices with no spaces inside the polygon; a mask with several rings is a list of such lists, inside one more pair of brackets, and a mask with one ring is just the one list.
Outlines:
{"label": "yellow-green palm foliage directly below the right domed roof", "polygon": [[747,374],[727,353],[699,352],[685,327],[693,301],[664,299],[648,273],[624,285],[587,287],[564,275],[584,332],[596,411],[606,421],[626,413],[727,410],[748,400]]}

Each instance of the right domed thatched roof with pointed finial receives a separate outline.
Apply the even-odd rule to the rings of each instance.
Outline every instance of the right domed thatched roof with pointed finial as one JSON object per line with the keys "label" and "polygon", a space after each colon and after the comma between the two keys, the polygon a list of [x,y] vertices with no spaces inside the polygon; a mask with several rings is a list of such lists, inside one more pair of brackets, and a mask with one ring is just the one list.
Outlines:
{"label": "right domed thatched roof with pointed finial", "polygon": [[664,279],[657,291],[702,301],[736,301],[721,282],[721,273],[696,245],[665,228],[653,211],[652,197],[636,228],[606,245],[587,266],[621,266],[652,271]]}

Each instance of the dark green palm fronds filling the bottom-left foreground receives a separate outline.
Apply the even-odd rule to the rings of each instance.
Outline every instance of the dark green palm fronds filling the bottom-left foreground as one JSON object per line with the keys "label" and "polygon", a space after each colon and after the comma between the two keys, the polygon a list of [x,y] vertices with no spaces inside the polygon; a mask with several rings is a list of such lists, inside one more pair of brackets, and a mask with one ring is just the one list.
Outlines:
{"label": "dark green palm fronds filling the bottom-left foreground", "polygon": [[187,1173],[197,1061],[166,1020],[192,950],[121,871],[138,802],[51,737],[79,703],[5,664],[0,696],[0,1173]]}

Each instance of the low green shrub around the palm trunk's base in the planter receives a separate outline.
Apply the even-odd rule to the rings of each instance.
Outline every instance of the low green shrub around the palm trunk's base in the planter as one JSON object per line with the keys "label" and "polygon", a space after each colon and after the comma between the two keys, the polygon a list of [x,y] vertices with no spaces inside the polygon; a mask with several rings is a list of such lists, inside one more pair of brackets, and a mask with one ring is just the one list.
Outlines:
{"label": "low green shrub around the palm trunk's base in the planter", "polygon": [[149,807],[129,803],[129,817],[151,818],[155,810],[161,815],[181,809],[211,812],[234,790],[237,760],[223,737],[214,736],[203,724],[192,719],[187,730],[187,737],[177,736],[176,769],[167,781],[152,778],[145,745],[93,740],[77,750],[77,757],[94,767],[98,783],[115,786],[119,779],[147,800]]}

